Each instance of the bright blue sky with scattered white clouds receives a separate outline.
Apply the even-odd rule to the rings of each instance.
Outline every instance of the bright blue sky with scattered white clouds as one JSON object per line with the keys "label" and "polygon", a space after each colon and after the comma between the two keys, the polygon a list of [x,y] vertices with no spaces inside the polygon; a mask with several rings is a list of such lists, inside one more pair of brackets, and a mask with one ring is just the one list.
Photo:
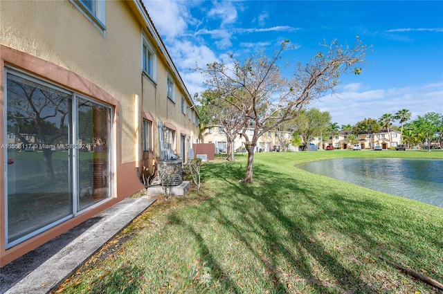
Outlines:
{"label": "bright blue sky with scattered white clouds", "polygon": [[[196,62],[244,60],[284,39],[283,57],[306,63],[325,39],[372,46],[361,75],[346,75],[309,107],[329,111],[338,125],[409,109],[413,119],[443,113],[443,1],[147,1],[144,0],[191,95],[204,91]],[[288,73],[289,75],[289,73]]]}

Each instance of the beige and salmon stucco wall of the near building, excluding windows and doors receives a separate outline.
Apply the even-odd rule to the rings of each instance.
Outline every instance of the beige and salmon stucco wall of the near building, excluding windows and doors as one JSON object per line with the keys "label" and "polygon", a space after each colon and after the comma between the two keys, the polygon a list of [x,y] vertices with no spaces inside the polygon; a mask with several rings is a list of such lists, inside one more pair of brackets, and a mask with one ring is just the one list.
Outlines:
{"label": "beige and salmon stucco wall of the near building, excluding windows and doors", "polygon": [[[33,250],[78,223],[141,190],[136,178],[136,117],[152,115],[154,152],[159,155],[158,120],[177,128],[176,146],[180,148],[181,132],[197,136],[197,127],[181,113],[181,95],[187,95],[175,77],[175,104],[166,98],[168,55],[157,52],[157,77],[153,83],[141,73],[142,30],[155,48],[155,39],[147,32],[145,16],[134,1],[105,1],[106,30],[103,33],[69,0],[60,1],[1,1],[0,0],[0,122],[4,122],[3,68],[11,66],[109,104],[114,109],[114,151],[112,169],[116,172],[114,198],[55,226],[28,241],[5,249],[4,218],[0,219],[0,265]],[[165,55],[166,54],[166,55]],[[143,82],[143,85],[142,85]],[[140,113],[135,111],[138,96]],[[189,102],[189,97],[187,98]],[[189,106],[189,105],[188,105]],[[137,115],[137,116],[136,116]],[[141,125],[138,126],[141,138]],[[5,138],[0,128],[0,143]],[[139,141],[141,142],[141,141]],[[145,154],[139,148],[139,155]],[[3,178],[4,156],[0,156],[0,177]],[[5,210],[5,185],[0,181],[0,213]]]}

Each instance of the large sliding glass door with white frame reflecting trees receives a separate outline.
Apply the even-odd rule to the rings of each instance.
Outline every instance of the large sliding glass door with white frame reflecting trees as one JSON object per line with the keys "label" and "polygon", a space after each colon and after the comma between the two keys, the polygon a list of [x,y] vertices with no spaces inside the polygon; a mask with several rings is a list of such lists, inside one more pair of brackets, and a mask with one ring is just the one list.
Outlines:
{"label": "large sliding glass door with white frame reflecting trees", "polygon": [[6,69],[6,247],[111,197],[111,107]]}

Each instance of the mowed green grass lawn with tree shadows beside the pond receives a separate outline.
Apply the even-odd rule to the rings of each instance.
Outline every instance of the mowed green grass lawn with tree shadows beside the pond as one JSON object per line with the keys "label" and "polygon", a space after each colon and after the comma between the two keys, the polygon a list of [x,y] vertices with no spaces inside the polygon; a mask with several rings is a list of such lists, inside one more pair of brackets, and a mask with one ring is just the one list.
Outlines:
{"label": "mowed green grass lawn with tree shadows beside the pond", "polygon": [[202,185],[163,197],[55,293],[440,293],[379,256],[443,282],[443,208],[310,174],[309,151],[204,163]]}

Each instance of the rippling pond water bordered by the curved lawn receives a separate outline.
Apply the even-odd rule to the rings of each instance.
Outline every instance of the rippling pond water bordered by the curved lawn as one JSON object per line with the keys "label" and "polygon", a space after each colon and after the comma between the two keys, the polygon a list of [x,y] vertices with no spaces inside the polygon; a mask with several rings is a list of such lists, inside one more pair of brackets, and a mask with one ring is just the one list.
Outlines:
{"label": "rippling pond water bordered by the curved lawn", "polygon": [[443,207],[443,160],[338,158],[297,165],[314,174]]}

